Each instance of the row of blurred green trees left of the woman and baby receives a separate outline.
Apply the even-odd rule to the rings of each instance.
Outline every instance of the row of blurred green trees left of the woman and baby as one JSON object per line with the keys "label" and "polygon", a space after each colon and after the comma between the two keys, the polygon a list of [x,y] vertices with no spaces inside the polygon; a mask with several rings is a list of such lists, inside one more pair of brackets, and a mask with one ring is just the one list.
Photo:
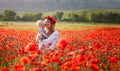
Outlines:
{"label": "row of blurred green trees left of the woman and baby", "polygon": [[0,20],[1,21],[36,21],[38,19],[41,19],[42,13],[37,14],[23,14],[17,15],[17,13],[13,10],[5,10],[3,13],[0,14]]}

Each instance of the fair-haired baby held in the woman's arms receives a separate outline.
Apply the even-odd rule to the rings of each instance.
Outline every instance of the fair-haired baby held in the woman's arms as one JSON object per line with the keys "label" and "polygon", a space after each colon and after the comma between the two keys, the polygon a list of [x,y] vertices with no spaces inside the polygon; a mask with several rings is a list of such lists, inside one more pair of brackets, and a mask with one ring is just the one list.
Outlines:
{"label": "fair-haired baby held in the woman's arms", "polygon": [[36,22],[39,30],[38,30],[38,34],[36,36],[36,42],[39,43],[40,40],[43,40],[43,39],[46,39],[47,38],[47,35],[46,35],[46,32],[45,32],[45,24],[42,20],[38,20]]}

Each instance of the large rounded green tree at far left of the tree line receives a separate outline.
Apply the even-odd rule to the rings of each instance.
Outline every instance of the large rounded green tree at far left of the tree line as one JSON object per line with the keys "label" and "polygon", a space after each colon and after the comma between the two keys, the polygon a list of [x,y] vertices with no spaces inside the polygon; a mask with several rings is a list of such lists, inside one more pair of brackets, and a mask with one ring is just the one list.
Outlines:
{"label": "large rounded green tree at far left of the tree line", "polygon": [[5,10],[3,13],[3,19],[8,21],[15,20],[16,12],[13,10]]}

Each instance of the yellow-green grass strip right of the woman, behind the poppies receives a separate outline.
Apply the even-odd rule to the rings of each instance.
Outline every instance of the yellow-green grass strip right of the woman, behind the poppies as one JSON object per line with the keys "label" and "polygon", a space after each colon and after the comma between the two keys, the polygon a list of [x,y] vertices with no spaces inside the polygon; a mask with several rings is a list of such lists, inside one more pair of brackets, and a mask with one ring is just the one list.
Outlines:
{"label": "yellow-green grass strip right of the woman, behind the poppies", "polygon": [[89,29],[89,28],[97,28],[97,27],[118,27],[120,28],[120,24],[61,22],[56,25],[56,29],[58,30],[81,30],[81,29]]}

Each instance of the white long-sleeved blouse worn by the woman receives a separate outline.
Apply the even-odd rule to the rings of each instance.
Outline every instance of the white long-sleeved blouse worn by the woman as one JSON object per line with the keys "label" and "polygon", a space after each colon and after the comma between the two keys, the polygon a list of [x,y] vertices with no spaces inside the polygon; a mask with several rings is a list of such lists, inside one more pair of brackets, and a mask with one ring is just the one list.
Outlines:
{"label": "white long-sleeved blouse worn by the woman", "polygon": [[47,39],[43,39],[42,41],[39,41],[39,49],[41,45],[44,44],[44,46],[47,47],[49,43],[51,43],[51,45],[49,46],[48,49],[54,49],[57,41],[58,41],[58,31],[54,31]]}

